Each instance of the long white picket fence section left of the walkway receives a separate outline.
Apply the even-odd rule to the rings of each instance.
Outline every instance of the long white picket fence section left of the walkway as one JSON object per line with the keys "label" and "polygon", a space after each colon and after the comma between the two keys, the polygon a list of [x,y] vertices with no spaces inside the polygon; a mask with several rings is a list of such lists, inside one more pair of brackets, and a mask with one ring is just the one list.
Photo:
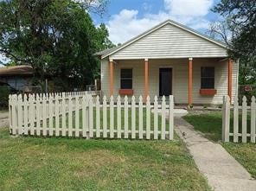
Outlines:
{"label": "long white picket fence section left of the walkway", "polygon": [[[173,96],[167,105],[142,96],[100,103],[88,94],[10,95],[10,133],[48,137],[173,139]],[[160,115],[159,115],[160,111]],[[168,120],[169,119],[169,120]]]}

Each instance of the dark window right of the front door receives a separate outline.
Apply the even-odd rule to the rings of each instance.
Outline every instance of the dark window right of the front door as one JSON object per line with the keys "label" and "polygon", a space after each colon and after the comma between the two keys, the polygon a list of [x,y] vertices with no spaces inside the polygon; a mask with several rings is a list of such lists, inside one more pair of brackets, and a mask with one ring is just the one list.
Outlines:
{"label": "dark window right of the front door", "polygon": [[201,67],[201,89],[214,89],[214,67]]}

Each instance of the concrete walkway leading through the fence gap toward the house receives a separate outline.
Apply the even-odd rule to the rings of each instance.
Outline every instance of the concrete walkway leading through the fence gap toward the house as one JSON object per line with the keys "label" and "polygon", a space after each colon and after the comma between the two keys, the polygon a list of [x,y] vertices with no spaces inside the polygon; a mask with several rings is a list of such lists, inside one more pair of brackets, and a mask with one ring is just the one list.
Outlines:
{"label": "concrete walkway leading through the fence gap toward the house", "polygon": [[180,117],[175,118],[175,131],[187,143],[198,169],[214,190],[256,190],[256,181],[219,143],[208,141]]}

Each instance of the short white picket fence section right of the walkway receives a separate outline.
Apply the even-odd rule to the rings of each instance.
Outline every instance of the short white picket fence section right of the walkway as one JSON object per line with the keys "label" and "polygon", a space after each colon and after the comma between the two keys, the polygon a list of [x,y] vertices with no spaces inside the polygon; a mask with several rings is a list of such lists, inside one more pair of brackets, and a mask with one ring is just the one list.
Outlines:
{"label": "short white picket fence section right of the walkway", "polygon": [[[240,107],[238,98],[235,97],[234,107],[232,108],[230,105],[229,97],[227,96],[223,99],[222,140],[224,142],[232,141],[234,143],[237,143],[241,141],[242,143],[255,143],[255,98],[254,96],[252,97],[252,102],[250,106],[247,105],[247,100],[245,96],[242,100],[242,105]],[[233,121],[230,120],[232,114]],[[250,119],[250,124],[247,124],[247,118]],[[233,126],[231,124],[233,124]],[[230,137],[233,137],[233,139],[231,140]]]}

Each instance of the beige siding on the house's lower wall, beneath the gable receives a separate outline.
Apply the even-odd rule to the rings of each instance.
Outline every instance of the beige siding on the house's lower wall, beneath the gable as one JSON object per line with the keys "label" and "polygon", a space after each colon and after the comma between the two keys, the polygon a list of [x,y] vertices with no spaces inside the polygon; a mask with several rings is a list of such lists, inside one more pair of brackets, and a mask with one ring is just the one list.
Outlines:
{"label": "beige siding on the house's lower wall, beneath the gable", "polygon": [[[220,60],[220,59],[219,59]],[[221,104],[224,95],[227,95],[227,60],[194,59],[193,60],[193,103],[194,104]],[[159,68],[173,68],[173,95],[176,104],[188,103],[188,59],[149,60],[149,95],[153,98],[159,94]],[[201,87],[201,67],[215,67],[214,96],[202,96],[199,93]],[[134,95],[144,95],[144,60],[118,60],[114,64],[114,96],[118,96],[120,88],[120,69],[132,68],[132,87]],[[233,64],[233,96],[237,94],[237,69]],[[109,65],[107,60],[102,60],[101,81],[103,94],[109,96]]]}

